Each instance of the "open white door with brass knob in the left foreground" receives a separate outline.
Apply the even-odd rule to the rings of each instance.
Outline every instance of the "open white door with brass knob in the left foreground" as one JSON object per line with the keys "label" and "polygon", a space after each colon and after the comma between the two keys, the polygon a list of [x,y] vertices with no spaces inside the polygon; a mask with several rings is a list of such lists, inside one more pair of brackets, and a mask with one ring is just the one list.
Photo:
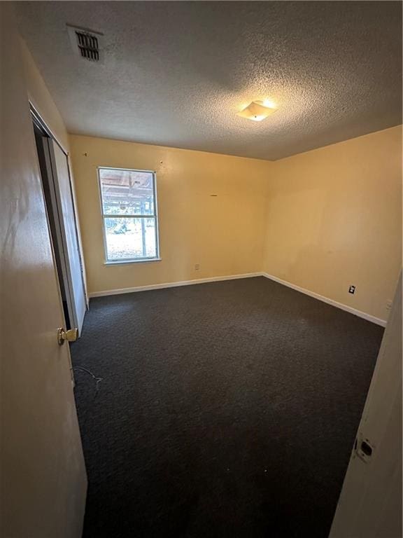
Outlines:
{"label": "open white door with brass knob in the left foreground", "polygon": [[80,538],[87,478],[13,9],[0,2],[0,536]]}

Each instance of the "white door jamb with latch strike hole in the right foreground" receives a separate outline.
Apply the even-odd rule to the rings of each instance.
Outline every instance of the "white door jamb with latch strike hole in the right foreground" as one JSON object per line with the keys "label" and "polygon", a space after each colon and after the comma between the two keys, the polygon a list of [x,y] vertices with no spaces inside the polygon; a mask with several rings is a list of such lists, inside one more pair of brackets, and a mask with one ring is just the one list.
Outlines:
{"label": "white door jamb with latch strike hole in the right foreground", "polygon": [[402,275],[330,538],[402,538]]}

